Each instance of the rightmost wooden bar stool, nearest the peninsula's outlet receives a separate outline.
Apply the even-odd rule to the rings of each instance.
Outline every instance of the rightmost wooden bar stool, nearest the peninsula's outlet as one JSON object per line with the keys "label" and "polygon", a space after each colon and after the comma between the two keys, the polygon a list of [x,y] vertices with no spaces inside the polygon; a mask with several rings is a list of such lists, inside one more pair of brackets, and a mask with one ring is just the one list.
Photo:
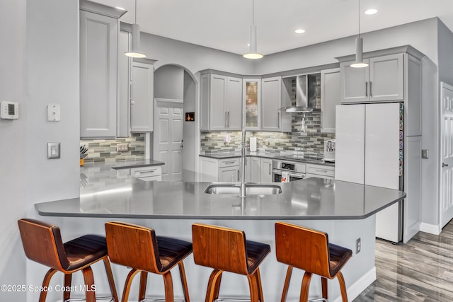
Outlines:
{"label": "rightmost wooden bar stool, nearest the peninsula's outlet", "polygon": [[352,257],[352,250],[328,243],[327,233],[291,223],[275,223],[275,253],[277,261],[289,265],[282,302],[286,301],[292,268],[305,271],[302,279],[300,301],[308,301],[312,274],[321,276],[323,298],[328,301],[327,279],[338,278],[343,302],[348,301],[345,279],[341,269]]}

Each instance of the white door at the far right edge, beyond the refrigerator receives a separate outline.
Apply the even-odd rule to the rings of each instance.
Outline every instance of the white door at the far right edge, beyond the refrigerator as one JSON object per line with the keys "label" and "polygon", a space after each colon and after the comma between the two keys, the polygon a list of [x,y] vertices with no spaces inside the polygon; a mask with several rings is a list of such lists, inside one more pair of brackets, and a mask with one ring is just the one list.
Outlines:
{"label": "white door at the far right edge, beyond the refrigerator", "polygon": [[453,86],[441,83],[442,125],[440,204],[442,227],[453,219]]}

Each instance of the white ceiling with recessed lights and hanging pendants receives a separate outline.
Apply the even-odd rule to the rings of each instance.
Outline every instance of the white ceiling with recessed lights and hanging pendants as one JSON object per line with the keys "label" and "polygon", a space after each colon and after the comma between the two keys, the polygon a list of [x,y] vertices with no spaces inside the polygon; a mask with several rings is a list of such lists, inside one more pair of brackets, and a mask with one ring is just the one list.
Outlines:
{"label": "white ceiling with recessed lights and hanging pendants", "polygon": [[[135,0],[91,1],[126,8],[120,21],[134,23]],[[367,16],[367,8],[378,13]],[[361,33],[435,16],[453,31],[453,0],[360,0],[360,11]],[[255,0],[258,52],[357,35],[358,15],[358,0]],[[137,0],[143,32],[236,54],[248,52],[251,18],[252,0]]]}

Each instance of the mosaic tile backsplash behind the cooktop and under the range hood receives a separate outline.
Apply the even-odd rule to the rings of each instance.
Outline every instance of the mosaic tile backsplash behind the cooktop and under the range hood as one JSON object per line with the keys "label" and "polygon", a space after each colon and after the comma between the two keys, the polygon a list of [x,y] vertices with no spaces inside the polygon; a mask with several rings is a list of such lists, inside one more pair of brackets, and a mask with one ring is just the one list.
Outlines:
{"label": "mosaic tile backsplash behind the cooktop and under the range hood", "polygon": [[[304,118],[304,129],[302,119]],[[230,142],[226,144],[224,137],[229,135]],[[257,137],[258,148],[270,151],[300,150],[307,153],[323,153],[324,141],[335,139],[334,133],[321,132],[321,115],[314,113],[293,113],[292,132],[246,132],[248,138]],[[268,143],[265,145],[265,143]],[[241,132],[202,132],[201,152],[237,151],[241,149]]]}

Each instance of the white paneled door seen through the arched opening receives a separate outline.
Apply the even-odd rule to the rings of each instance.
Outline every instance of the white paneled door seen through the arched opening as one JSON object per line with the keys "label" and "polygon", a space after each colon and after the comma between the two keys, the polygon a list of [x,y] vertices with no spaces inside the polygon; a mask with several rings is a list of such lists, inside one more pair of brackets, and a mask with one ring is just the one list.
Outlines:
{"label": "white paneled door seen through the arched opening", "polygon": [[156,99],[153,158],[163,161],[162,180],[183,180],[183,102]]}

